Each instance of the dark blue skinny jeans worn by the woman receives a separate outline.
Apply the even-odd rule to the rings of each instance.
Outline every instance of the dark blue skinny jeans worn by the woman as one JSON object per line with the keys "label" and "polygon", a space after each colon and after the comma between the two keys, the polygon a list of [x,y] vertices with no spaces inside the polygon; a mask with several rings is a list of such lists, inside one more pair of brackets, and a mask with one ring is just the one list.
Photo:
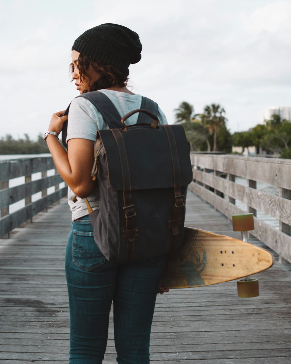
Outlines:
{"label": "dark blue skinny jeans worn by the woman", "polygon": [[166,257],[108,262],[94,241],[89,217],[72,222],[65,256],[69,364],[102,363],[112,301],[117,363],[150,363],[152,318]]}

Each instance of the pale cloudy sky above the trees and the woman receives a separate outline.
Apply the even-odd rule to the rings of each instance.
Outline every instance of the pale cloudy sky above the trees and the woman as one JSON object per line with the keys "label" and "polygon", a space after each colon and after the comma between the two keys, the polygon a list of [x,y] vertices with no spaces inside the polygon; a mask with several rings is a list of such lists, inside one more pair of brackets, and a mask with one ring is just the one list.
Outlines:
{"label": "pale cloudy sky above the trees and the woman", "polygon": [[103,23],[139,34],[129,85],[169,123],[183,101],[196,114],[220,104],[231,133],[291,106],[291,0],[0,0],[0,137],[47,131],[79,95],[68,75],[74,40]]}

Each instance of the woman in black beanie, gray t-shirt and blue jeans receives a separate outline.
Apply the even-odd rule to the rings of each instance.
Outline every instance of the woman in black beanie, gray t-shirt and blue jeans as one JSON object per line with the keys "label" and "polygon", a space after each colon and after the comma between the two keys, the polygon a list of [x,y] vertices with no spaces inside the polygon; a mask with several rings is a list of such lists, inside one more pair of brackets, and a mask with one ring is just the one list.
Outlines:
{"label": "woman in black beanie, gray t-shirt and blue jeans", "polygon": [[[101,24],[79,36],[72,47],[72,79],[80,94],[103,92],[120,115],[140,108],[141,95],[126,87],[130,63],[139,62],[137,33],[117,24]],[[72,228],[65,269],[68,284],[71,348],[70,364],[102,363],[113,301],[117,363],[148,364],[150,331],[157,291],[166,256],[117,264],[105,259],[93,239],[85,197],[98,209],[98,189],[91,178],[96,131],[108,128],[101,114],[85,98],[72,101],[69,116],[53,114],[45,139],[53,160],[68,184]],[[135,124],[138,114],[130,123]],[[167,123],[159,110],[160,123]],[[68,153],[58,142],[68,119]],[[77,201],[73,199],[77,196]]]}

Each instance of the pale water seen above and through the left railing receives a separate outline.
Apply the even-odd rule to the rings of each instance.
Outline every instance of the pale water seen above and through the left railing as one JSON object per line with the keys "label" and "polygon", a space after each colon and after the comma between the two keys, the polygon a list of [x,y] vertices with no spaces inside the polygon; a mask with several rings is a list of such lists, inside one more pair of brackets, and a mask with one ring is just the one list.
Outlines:
{"label": "pale water seen above and through the left railing", "polygon": [[[27,158],[39,158],[39,157],[51,157],[51,154],[12,154],[12,155],[0,155],[0,161],[10,161],[10,160],[19,160],[19,159],[27,159]],[[1,168],[1,164],[0,164]],[[52,176],[55,174],[55,169],[50,169],[47,171],[47,176]],[[41,172],[33,173],[31,175],[31,180],[36,181],[37,179],[41,179]],[[19,185],[23,185],[25,182],[25,177],[17,177],[13,179],[9,179],[8,181],[8,187],[16,187]],[[61,182],[59,184],[59,188],[63,188],[65,186],[65,182]],[[47,189],[47,194],[51,194],[55,192],[55,186],[49,187]],[[31,202],[35,202],[41,198],[41,191],[33,194],[31,196]],[[17,201],[15,203],[12,203],[8,207],[9,214],[12,214],[13,212],[22,209],[25,206],[25,199],[22,199],[20,201]]]}

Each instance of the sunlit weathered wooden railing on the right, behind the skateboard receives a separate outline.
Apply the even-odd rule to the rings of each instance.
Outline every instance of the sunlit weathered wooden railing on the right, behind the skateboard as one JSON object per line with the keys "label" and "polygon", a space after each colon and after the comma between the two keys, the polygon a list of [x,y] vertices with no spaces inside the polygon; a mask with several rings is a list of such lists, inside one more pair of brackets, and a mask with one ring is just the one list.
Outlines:
{"label": "sunlit weathered wooden railing on the right, behind the skateboard", "polygon": [[[238,201],[246,204],[255,216],[251,234],[278,253],[280,262],[291,262],[291,160],[191,154],[191,161],[189,189],[228,218],[246,212]],[[245,186],[236,177],[245,179]],[[274,186],[278,195],[257,190],[257,182]],[[277,219],[278,229],[256,217],[259,211]]]}

